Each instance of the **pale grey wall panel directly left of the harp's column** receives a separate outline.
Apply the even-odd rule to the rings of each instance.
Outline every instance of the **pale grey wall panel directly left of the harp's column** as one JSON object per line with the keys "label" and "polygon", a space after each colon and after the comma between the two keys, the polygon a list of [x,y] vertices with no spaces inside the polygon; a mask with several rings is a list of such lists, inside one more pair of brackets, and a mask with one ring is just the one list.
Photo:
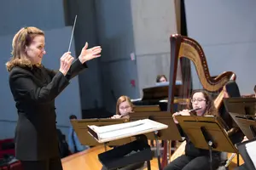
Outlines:
{"label": "pale grey wall panel directly left of the harp's column", "polygon": [[173,0],[131,0],[139,90],[154,86],[159,74],[169,77],[170,42],[177,32]]}

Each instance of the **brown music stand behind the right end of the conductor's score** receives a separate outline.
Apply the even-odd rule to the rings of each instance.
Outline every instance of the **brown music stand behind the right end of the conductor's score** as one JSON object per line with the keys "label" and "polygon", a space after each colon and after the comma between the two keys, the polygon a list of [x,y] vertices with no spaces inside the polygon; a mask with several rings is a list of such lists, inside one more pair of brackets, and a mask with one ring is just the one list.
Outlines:
{"label": "brown music stand behind the right end of the conductor's score", "polygon": [[152,111],[152,112],[133,112],[130,114],[130,121],[137,121],[142,119],[151,119],[155,122],[160,122],[168,125],[168,128],[156,131],[154,133],[145,133],[148,139],[156,142],[157,158],[159,169],[160,166],[160,148],[158,140],[182,140],[182,137],[177,129],[177,125],[173,121],[172,114],[167,111]]}

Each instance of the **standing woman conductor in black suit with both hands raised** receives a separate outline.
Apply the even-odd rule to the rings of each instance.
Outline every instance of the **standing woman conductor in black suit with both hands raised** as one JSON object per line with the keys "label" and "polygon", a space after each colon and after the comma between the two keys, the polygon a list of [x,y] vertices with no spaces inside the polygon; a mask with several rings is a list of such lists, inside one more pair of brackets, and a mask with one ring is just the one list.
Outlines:
{"label": "standing woman conductor in black suit with both hands raised", "polygon": [[15,129],[16,157],[24,170],[61,170],[55,98],[71,79],[86,68],[86,61],[101,56],[102,48],[85,43],[74,60],[70,52],[61,56],[60,68],[52,71],[41,64],[45,52],[44,31],[21,28],[12,42],[12,58],[6,63],[9,88],[15,100],[18,122]]}

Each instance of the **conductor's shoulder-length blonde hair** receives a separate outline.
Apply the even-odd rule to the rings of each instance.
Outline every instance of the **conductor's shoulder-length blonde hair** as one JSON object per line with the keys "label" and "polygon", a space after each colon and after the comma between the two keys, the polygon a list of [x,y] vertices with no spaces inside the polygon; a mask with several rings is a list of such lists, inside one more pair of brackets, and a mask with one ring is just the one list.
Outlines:
{"label": "conductor's shoulder-length blonde hair", "polygon": [[33,26],[21,28],[20,31],[15,34],[12,42],[12,58],[5,64],[8,71],[11,71],[17,65],[32,68],[31,60],[26,57],[25,48],[29,46],[33,38],[37,36],[44,36],[44,31]]}

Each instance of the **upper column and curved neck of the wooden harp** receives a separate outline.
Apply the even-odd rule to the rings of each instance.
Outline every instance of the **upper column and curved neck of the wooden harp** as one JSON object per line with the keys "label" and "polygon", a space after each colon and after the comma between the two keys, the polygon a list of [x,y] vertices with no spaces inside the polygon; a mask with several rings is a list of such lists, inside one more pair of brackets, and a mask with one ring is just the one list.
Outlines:
{"label": "upper column and curved neck of the wooden harp", "polygon": [[[173,111],[174,101],[174,82],[177,77],[177,63],[179,59],[186,58],[191,60],[195,65],[195,70],[200,79],[201,85],[209,92],[218,92],[230,80],[236,80],[236,74],[232,71],[225,71],[217,77],[211,77],[207,59],[201,48],[201,45],[194,39],[173,34],[170,38],[171,42],[171,65],[170,65],[170,85],[168,94],[167,111]],[[181,61],[183,67],[183,61]],[[186,80],[186,72],[182,71],[183,88],[189,87],[189,80]],[[189,91],[186,91],[189,92]]]}

